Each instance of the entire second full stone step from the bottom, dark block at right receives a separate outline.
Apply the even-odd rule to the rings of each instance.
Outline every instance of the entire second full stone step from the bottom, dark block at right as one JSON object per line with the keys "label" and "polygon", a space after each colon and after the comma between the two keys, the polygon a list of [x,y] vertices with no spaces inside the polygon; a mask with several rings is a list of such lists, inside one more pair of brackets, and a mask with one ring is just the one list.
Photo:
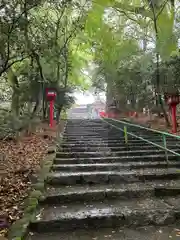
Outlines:
{"label": "entire second full stone step from the bottom, dark block at right", "polygon": [[180,180],[145,183],[75,185],[48,187],[41,204],[64,204],[74,201],[102,201],[104,199],[133,199],[180,195]]}

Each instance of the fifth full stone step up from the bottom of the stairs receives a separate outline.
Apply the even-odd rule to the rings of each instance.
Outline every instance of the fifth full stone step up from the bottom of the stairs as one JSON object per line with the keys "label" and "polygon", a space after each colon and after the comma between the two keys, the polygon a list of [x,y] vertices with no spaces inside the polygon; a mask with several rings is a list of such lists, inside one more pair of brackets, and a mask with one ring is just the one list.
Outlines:
{"label": "fifth full stone step up from the bottom of the stairs", "polygon": [[[76,157],[76,158],[56,158],[54,164],[80,164],[80,163],[124,163],[129,161],[149,162],[149,161],[165,161],[164,154],[148,155],[148,156],[104,156],[104,157]],[[179,160],[179,156],[168,154],[168,160]]]}

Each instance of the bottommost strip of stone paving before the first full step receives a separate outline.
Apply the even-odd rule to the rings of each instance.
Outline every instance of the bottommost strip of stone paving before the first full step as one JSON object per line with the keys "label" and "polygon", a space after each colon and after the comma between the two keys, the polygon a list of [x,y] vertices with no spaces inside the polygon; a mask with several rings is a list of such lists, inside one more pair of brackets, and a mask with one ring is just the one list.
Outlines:
{"label": "bottommost strip of stone paving before the first full step", "polygon": [[28,240],[179,240],[180,224],[167,227],[98,228],[54,233],[31,233]]}

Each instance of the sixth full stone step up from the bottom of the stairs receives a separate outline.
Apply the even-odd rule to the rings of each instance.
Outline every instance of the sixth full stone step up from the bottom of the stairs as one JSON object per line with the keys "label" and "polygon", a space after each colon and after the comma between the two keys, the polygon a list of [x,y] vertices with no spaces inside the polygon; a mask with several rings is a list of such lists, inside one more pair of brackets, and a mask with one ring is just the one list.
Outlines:
{"label": "sixth full stone step up from the bottom of the stairs", "polygon": [[[174,152],[180,153],[180,149],[176,148],[173,149]],[[163,149],[144,149],[144,150],[127,150],[127,151],[111,151],[104,150],[104,151],[97,151],[97,152],[57,152],[57,158],[70,158],[70,157],[98,157],[98,156],[142,156],[142,155],[152,155],[152,154],[165,154],[165,150]]]}

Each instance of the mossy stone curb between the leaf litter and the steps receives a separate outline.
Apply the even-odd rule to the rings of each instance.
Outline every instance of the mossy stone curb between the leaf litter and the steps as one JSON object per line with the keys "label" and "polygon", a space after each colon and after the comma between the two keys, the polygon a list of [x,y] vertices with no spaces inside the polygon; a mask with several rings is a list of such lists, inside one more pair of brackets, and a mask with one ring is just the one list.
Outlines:
{"label": "mossy stone curb between the leaf litter and the steps", "polygon": [[[67,121],[66,121],[67,123]],[[56,140],[61,144],[66,123],[61,134],[57,134]],[[28,198],[24,202],[24,214],[21,219],[17,220],[8,231],[9,240],[24,240],[28,235],[28,228],[30,222],[36,217],[36,210],[39,201],[44,196],[46,178],[52,167],[53,161],[56,157],[56,141],[54,145],[48,148],[47,156],[41,161],[41,169],[38,174],[37,183],[32,185],[32,190]]]}

